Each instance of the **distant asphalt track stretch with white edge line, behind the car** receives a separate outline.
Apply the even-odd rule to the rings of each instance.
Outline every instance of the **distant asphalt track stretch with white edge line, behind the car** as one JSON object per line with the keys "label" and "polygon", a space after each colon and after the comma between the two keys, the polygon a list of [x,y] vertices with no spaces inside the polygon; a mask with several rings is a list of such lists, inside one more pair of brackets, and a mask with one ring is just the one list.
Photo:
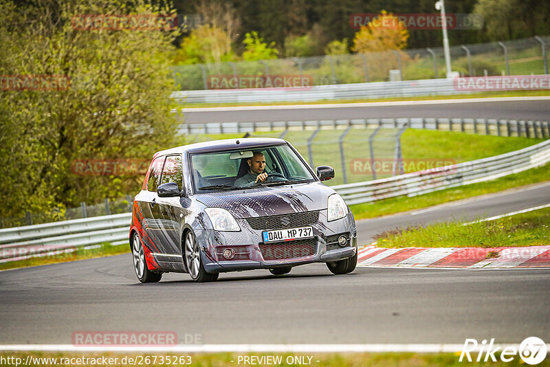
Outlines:
{"label": "distant asphalt track stretch with white edge line, behind the car", "polygon": [[492,102],[418,101],[363,104],[313,104],[274,107],[184,109],[186,122],[346,120],[354,118],[507,118],[550,120],[550,98]]}

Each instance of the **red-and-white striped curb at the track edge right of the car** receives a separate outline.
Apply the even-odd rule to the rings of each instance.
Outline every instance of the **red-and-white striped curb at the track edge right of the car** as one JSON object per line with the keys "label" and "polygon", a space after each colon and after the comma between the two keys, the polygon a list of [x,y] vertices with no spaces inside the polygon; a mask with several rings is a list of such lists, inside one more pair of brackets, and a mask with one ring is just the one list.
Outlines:
{"label": "red-and-white striped curb at the track edge right of the car", "polygon": [[369,245],[359,250],[358,266],[459,267],[472,269],[550,267],[550,245],[495,248],[406,247],[397,249]]}

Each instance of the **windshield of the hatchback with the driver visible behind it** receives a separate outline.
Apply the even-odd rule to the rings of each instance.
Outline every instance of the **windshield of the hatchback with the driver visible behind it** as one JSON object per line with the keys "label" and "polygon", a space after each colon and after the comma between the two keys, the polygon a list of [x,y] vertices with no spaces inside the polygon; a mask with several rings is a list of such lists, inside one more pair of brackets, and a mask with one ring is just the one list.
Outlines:
{"label": "windshield of the hatchback with the driver visible behind it", "polygon": [[[197,190],[232,190],[315,180],[288,145],[195,153],[191,155],[191,165]],[[258,179],[259,175],[263,175],[263,181]]]}

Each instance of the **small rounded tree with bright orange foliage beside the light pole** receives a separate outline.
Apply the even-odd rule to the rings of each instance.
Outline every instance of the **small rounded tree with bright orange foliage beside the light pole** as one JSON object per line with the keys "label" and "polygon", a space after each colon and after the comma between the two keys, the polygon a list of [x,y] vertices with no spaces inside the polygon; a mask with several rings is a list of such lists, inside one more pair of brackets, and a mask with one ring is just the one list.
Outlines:
{"label": "small rounded tree with bright orange foliage beside the light pole", "polygon": [[361,53],[404,49],[407,39],[408,31],[403,22],[382,10],[379,16],[355,34],[352,49]]}

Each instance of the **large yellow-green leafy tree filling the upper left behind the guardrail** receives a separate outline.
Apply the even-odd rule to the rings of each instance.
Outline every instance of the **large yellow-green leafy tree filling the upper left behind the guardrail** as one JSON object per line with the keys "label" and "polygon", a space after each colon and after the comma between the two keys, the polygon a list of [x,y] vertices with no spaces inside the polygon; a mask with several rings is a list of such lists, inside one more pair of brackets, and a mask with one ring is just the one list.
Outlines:
{"label": "large yellow-green leafy tree filling the upper left behind the guardrail", "polygon": [[177,30],[78,30],[79,14],[172,16],[148,0],[0,3],[0,76],[61,76],[63,88],[0,89],[1,216],[135,194],[142,176],[83,176],[82,159],[151,159],[174,144],[168,69]]}

